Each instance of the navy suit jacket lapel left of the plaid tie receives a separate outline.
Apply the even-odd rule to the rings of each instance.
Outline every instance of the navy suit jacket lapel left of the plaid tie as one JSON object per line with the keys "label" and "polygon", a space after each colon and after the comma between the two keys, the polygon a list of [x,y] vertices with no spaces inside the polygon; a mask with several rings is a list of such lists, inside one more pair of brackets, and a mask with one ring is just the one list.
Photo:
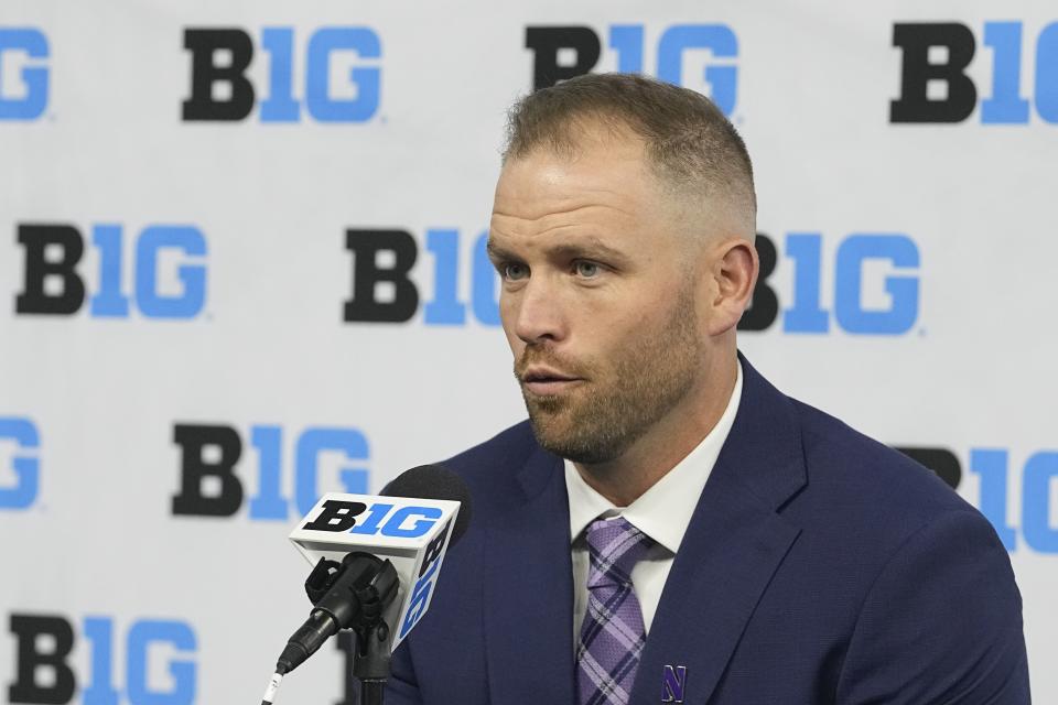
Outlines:
{"label": "navy suit jacket lapel left of the plaid tie", "polygon": [[498,513],[485,544],[489,702],[573,703],[573,570],[562,462],[538,448],[518,480],[522,501]]}

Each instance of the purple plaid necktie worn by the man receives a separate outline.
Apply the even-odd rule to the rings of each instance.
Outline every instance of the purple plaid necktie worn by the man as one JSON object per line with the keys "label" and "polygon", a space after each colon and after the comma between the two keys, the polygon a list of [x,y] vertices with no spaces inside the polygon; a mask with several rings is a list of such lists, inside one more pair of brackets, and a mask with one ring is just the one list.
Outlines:
{"label": "purple plaid necktie worn by the man", "polygon": [[587,527],[587,612],[576,648],[580,705],[625,705],[647,641],[631,568],[652,545],[623,517]]}

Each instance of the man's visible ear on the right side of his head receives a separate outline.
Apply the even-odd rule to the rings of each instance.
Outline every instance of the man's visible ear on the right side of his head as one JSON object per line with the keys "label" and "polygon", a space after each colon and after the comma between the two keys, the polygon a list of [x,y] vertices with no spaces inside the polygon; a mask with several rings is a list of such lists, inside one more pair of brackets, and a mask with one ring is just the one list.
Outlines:
{"label": "man's visible ear on the right side of his head", "polygon": [[749,306],[760,260],[753,242],[743,238],[719,242],[711,254],[708,328],[709,335],[719,336],[738,325],[742,313]]}

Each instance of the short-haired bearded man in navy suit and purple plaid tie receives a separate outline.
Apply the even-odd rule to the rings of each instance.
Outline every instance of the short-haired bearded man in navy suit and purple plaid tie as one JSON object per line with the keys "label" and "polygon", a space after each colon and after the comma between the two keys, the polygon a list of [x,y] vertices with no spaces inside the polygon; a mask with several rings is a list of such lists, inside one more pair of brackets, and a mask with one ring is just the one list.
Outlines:
{"label": "short-haired bearded man in navy suit and purple plaid tie", "polygon": [[596,75],[511,112],[488,250],[529,423],[447,464],[474,520],[388,703],[1028,703],[991,525],[742,358],[745,147]]}

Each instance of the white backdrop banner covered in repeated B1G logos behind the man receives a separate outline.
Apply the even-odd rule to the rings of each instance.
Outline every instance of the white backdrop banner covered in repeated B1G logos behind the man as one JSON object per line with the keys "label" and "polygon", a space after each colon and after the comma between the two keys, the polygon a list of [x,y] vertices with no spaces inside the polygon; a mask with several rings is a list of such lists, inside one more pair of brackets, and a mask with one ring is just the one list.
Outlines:
{"label": "white backdrop banner covered in repeated B1G logos behind the man", "polygon": [[[307,615],[296,519],[523,417],[505,112],[605,70],[738,127],[743,351],[985,513],[1058,702],[1043,0],[0,0],[0,701],[257,702]],[[354,703],[350,648],[281,699]]]}

